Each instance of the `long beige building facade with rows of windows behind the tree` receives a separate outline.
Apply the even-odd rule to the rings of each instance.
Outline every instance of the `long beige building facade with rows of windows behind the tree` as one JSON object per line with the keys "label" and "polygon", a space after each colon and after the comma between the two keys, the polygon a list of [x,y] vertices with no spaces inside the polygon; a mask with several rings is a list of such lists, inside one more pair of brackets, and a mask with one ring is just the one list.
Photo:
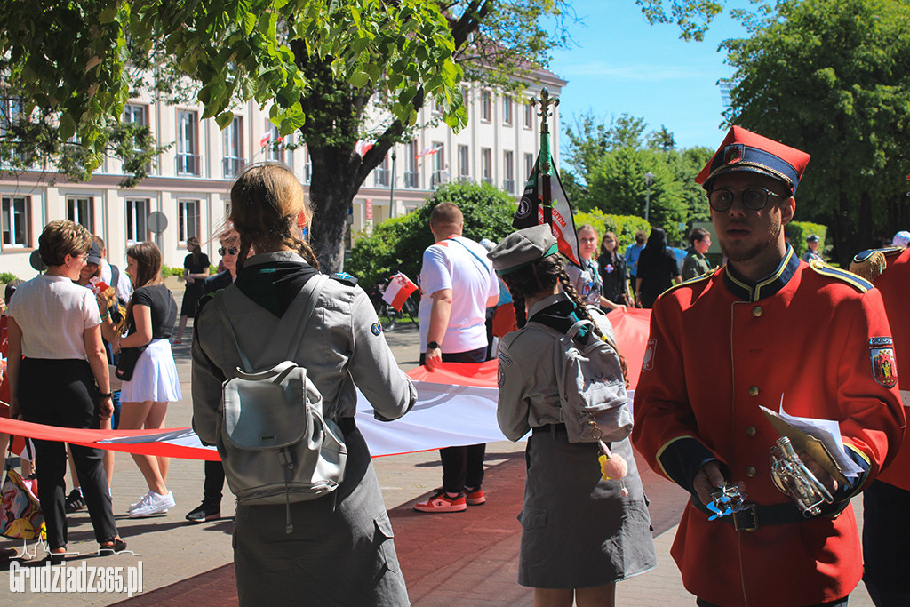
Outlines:
{"label": "long beige building facade with rows of windows behind the tree", "polygon": [[[550,72],[521,97],[500,96],[478,85],[464,87],[469,123],[460,133],[435,121],[435,106],[421,108],[416,136],[399,144],[373,170],[360,187],[349,213],[345,245],[350,248],[360,234],[385,219],[410,213],[420,207],[440,185],[450,182],[488,182],[521,196],[540,142],[540,117],[528,104],[531,96],[546,86],[559,96],[566,81]],[[7,104],[14,103],[10,100]],[[7,107],[7,116],[15,107]],[[305,188],[310,165],[298,134],[279,139],[268,113],[253,103],[235,109],[232,124],[223,131],[214,119],[200,119],[203,108],[167,105],[152,97],[138,97],[126,106],[124,120],[148,125],[157,144],[170,147],[149,177],[138,187],[122,188],[122,168],[107,158],[86,182],[58,177],[50,183],[42,170],[0,175],[0,272],[32,278],[29,258],[48,221],[69,218],[105,239],[107,256],[126,267],[126,248],[154,240],[167,266],[183,266],[187,238],[196,237],[203,251],[217,264],[218,242],[224,226],[228,190],[232,179],[248,164],[278,160],[292,167]],[[551,117],[553,157],[559,157],[559,110]],[[167,219],[159,231],[158,221]]]}

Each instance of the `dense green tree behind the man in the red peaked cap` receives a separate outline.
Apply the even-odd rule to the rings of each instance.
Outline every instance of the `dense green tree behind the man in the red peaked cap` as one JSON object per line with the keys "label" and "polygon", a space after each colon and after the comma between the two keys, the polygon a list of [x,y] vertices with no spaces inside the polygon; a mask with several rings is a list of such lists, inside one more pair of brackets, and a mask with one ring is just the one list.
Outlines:
{"label": "dense green tree behind the man in the red peaked cap", "polygon": [[788,0],[723,44],[736,67],[727,122],[812,155],[796,217],[831,226],[842,265],[910,224],[908,30],[900,0]]}

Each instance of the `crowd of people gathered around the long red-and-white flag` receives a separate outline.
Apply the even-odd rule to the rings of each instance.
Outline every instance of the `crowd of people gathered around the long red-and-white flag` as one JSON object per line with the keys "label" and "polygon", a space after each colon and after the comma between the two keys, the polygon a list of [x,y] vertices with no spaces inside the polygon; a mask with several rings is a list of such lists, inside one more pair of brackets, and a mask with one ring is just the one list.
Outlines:
{"label": "crowd of people gathered around the long red-and-white flag", "polygon": [[[661,228],[637,232],[622,253],[613,232],[601,238],[581,226],[576,266],[563,261],[549,226],[483,246],[464,236],[459,207],[444,202],[432,210],[435,242],[420,271],[420,364],[433,371],[446,362],[498,360],[501,431],[510,440],[530,434],[517,513],[518,582],[534,589],[535,605],[612,605],[617,582],[655,566],[633,445],[692,496],[672,558],[698,605],[845,605],[864,560],[876,605],[910,604],[898,556],[910,540],[903,521],[910,447],[901,448],[908,397],[895,367],[910,348],[910,234],[899,232],[895,247],[858,254],[857,274],[825,264],[815,235],[798,258],[784,227],[794,218],[808,160],[733,127],[696,179],[713,234],[694,228],[682,264]],[[389,422],[414,406],[417,392],[356,280],[321,275],[303,237],[311,212],[291,170],[247,167],[230,196],[218,236],[223,271],[210,277],[200,243],[187,242],[179,314],[153,243],[127,249],[128,284],[121,288],[123,273],[106,264],[103,241],[71,221],[47,224],[39,238],[47,269],[7,297],[9,415],[66,428],[164,428],[167,403],[183,397],[172,332],[177,325],[174,343],[181,343],[194,319],[193,428],[204,444],[218,446],[225,464],[206,463],[203,500],[187,520],[212,521],[220,517],[226,471],[233,482],[242,464],[232,459],[242,457],[237,450],[224,449],[224,387],[254,377],[250,369],[305,368],[308,401],[321,403],[332,422],[327,431],[337,428],[345,447],[343,474],[328,494],[238,500],[239,602],[307,596],[319,604],[407,605],[354,413],[357,390],[376,418]],[[717,268],[708,257],[712,238],[723,252]],[[515,330],[501,333],[490,350],[488,309],[504,302]],[[600,348],[602,367],[589,372],[609,376],[617,406],[631,407],[609,313],[632,307],[652,309],[634,427],[607,440],[591,414],[594,439],[579,439],[567,420],[569,367],[559,361],[571,349]],[[305,345],[314,343],[321,347]],[[115,375],[122,379],[116,390]],[[779,435],[762,408],[836,422],[834,444],[844,451],[838,457],[818,459],[796,445],[799,473],[828,495],[818,511],[804,511],[769,471]],[[125,550],[112,509],[113,462],[100,450],[71,445],[75,489],[67,496],[66,446],[34,442],[48,561],[65,559],[66,512],[82,507],[99,553]],[[483,444],[441,449],[441,486],[414,510],[460,512],[487,501],[484,452]],[[129,516],[174,508],[167,458],[133,457],[148,491]],[[861,541],[850,500],[862,491]],[[731,495],[742,503],[724,511]]]}

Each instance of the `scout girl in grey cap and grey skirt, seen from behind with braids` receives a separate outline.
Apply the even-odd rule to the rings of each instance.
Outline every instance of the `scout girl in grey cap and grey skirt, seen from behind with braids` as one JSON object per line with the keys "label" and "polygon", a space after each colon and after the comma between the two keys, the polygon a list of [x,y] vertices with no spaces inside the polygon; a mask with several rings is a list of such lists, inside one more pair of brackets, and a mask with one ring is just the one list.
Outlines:
{"label": "scout girl in grey cap and grey skirt, seen from behind with braids", "polygon": [[600,313],[592,319],[581,304],[549,226],[511,234],[489,257],[511,291],[520,327],[500,344],[497,417],[510,440],[532,432],[519,517],[519,583],[534,588],[535,605],[571,605],[573,599],[612,605],[615,582],[657,562],[632,445],[628,438],[610,445],[614,455],[629,463],[622,480],[625,495],[620,481],[602,480],[598,444],[569,442],[559,421],[553,364],[558,341],[523,329],[529,319],[563,332],[580,319],[591,319],[614,344],[610,321]]}

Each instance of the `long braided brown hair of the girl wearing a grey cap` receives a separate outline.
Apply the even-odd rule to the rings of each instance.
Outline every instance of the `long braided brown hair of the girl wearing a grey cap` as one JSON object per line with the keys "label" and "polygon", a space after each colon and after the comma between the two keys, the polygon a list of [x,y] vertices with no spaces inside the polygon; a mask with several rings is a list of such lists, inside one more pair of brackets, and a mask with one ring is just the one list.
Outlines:
{"label": "long braided brown hair of the girl wearing a grey cap", "polygon": [[537,295],[541,292],[551,292],[553,287],[559,281],[562,290],[575,303],[575,314],[580,319],[590,320],[593,325],[592,331],[597,339],[603,339],[620,359],[622,368],[622,378],[629,377],[629,368],[626,366],[625,357],[622,356],[619,347],[613,339],[602,334],[597,323],[591,318],[591,312],[588,307],[581,301],[578,291],[571,284],[571,279],[566,273],[565,266],[562,264],[562,258],[559,254],[554,253],[544,258],[532,261],[527,266],[519,268],[510,274],[502,276],[502,281],[506,283],[512,296],[512,306],[515,308],[515,321],[518,328],[521,329],[528,324],[527,311],[525,310],[525,297]]}

